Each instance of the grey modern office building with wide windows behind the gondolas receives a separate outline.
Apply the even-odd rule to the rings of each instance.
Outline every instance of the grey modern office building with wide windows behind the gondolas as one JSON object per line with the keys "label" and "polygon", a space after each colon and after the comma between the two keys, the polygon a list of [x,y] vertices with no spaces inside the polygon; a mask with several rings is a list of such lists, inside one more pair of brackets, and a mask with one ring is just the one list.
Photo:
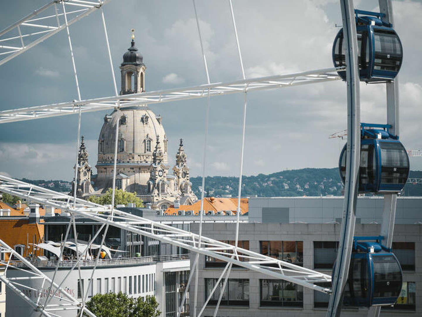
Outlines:
{"label": "grey modern office building with wide windows behind the gondolas", "polygon": [[[359,197],[355,235],[378,235],[381,197]],[[343,197],[277,197],[249,199],[249,223],[241,224],[239,246],[271,257],[331,274],[341,231]],[[381,316],[422,315],[422,198],[398,198],[393,252],[403,269],[403,286],[393,307]],[[191,224],[198,232],[198,224]],[[235,224],[208,223],[203,235],[216,240],[235,240]],[[192,265],[192,263],[191,263]],[[225,262],[200,257],[198,305],[203,306]],[[195,291],[190,288],[191,298]],[[203,316],[212,316],[219,288]],[[329,295],[282,280],[233,267],[217,316],[325,316]],[[192,301],[191,301],[192,311]],[[366,316],[368,309],[347,307],[342,316]]]}

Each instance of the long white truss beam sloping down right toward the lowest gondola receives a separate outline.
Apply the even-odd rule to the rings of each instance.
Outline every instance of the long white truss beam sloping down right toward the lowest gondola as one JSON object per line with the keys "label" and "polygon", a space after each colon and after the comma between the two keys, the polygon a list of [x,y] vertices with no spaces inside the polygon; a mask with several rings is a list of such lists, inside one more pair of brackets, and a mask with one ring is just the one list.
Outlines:
{"label": "long white truss beam sloping down right toward the lowest gondola", "polygon": [[[320,273],[308,268],[273,259],[253,251],[235,248],[227,243],[217,240],[201,237],[199,235],[184,231],[175,227],[152,221],[142,217],[134,216],[114,209],[114,215],[111,216],[111,207],[101,206],[84,199],[76,198],[66,194],[57,193],[49,189],[44,189],[20,180],[14,180],[0,175],[0,191],[16,195],[27,199],[27,201],[37,202],[42,205],[49,205],[54,208],[60,208],[63,211],[70,212],[75,216],[98,221],[103,224],[110,224],[130,232],[145,235],[149,238],[170,243],[208,257],[239,265],[249,270],[263,273],[274,279],[283,279],[303,287],[330,294],[331,290],[327,287],[316,285],[318,282],[329,282],[331,276]],[[236,257],[233,253],[237,251]],[[274,265],[274,266],[268,266]]]}

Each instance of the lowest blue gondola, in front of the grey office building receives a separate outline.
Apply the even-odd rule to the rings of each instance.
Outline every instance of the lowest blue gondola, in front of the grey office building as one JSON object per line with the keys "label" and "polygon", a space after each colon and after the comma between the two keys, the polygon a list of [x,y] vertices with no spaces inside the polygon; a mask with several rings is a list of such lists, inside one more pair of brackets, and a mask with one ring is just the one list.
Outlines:
{"label": "lowest blue gondola, in front of the grey office building", "polygon": [[[344,306],[393,305],[400,295],[403,272],[391,249],[379,237],[354,237]],[[376,242],[362,242],[376,240]]]}

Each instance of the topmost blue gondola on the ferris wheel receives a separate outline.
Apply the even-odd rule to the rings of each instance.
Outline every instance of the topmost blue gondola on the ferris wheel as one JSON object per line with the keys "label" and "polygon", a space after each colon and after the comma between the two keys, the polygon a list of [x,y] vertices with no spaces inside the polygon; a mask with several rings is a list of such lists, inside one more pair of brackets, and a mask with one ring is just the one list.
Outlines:
{"label": "topmost blue gondola on the ferris wheel", "polygon": [[[381,21],[383,13],[354,10],[356,14],[359,75],[364,82],[386,82],[394,79],[400,70],[403,50],[395,30],[390,23]],[[359,16],[359,15],[364,16]],[[345,66],[343,29],[333,44],[334,66]],[[338,75],[346,80],[346,71]]]}

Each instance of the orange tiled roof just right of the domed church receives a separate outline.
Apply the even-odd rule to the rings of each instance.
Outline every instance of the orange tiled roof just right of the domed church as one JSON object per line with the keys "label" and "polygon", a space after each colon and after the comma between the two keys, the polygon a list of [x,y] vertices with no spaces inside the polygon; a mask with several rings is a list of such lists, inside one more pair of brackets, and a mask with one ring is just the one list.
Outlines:
{"label": "orange tiled roof just right of the domed church", "polygon": [[[217,211],[236,211],[237,210],[238,199],[237,198],[214,198],[214,197],[205,197],[204,198],[204,210],[211,210],[213,213]],[[179,210],[193,210],[194,214],[197,215],[201,209],[201,201],[193,203],[192,205],[180,205],[179,208],[174,208],[174,205],[171,205],[167,210],[165,210],[166,215],[177,215]],[[241,198],[240,202],[241,214],[248,212],[248,199]]]}

